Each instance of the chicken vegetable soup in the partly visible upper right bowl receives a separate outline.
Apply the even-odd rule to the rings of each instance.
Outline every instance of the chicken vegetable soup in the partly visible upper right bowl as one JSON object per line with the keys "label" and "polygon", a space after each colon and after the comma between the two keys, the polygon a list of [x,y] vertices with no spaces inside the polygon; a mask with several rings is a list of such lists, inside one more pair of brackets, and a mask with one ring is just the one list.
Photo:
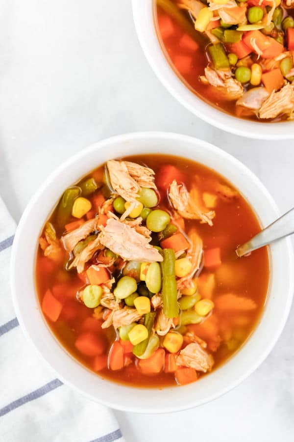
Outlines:
{"label": "chicken vegetable soup in the partly visible upper right bowl", "polygon": [[294,119],[294,0],[154,4],[164,53],[200,98],[246,119]]}

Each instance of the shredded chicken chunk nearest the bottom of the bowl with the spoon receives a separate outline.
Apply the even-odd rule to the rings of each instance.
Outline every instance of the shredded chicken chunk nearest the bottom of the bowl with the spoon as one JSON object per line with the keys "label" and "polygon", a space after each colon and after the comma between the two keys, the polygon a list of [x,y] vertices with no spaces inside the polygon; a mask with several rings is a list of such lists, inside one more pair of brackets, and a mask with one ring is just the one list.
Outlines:
{"label": "shredded chicken chunk nearest the bottom of the bowl with the spoon", "polygon": [[176,365],[195,368],[197,371],[206,373],[212,369],[213,357],[209,355],[197,342],[188,344],[180,351],[176,358]]}

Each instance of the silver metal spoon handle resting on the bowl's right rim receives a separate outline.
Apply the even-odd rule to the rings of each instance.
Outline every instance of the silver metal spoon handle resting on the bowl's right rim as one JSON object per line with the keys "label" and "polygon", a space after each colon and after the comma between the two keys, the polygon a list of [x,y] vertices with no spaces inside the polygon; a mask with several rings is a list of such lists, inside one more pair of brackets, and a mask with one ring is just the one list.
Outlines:
{"label": "silver metal spoon handle resting on the bowl's right rim", "polygon": [[291,233],[294,233],[294,208],[278,218],[257,235],[253,236],[253,238],[245,244],[239,246],[236,253],[239,257],[244,256],[253,250],[267,246],[277,239],[291,235]]}

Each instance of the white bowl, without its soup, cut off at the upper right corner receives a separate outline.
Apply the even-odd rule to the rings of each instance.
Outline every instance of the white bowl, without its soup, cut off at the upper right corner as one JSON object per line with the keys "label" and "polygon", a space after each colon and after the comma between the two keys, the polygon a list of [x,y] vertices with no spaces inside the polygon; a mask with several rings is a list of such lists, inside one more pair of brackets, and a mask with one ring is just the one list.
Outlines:
{"label": "white bowl, without its soup, cut off at the upper right corner", "polygon": [[250,138],[294,138],[294,122],[266,123],[234,117],[205,103],[177,77],[166,59],[154,26],[153,0],[132,0],[137,34],[147,60],[161,83],[176,100],[213,126]]}

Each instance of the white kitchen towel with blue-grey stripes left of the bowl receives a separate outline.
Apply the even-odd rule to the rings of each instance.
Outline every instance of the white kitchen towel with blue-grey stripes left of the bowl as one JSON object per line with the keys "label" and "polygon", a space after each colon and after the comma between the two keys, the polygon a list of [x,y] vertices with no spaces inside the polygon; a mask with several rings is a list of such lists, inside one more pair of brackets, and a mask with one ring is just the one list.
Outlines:
{"label": "white kitchen towel with blue-grey stripes left of the bowl", "polygon": [[15,228],[0,199],[0,442],[123,442],[112,411],[56,379],[20,330],[9,290]]}

